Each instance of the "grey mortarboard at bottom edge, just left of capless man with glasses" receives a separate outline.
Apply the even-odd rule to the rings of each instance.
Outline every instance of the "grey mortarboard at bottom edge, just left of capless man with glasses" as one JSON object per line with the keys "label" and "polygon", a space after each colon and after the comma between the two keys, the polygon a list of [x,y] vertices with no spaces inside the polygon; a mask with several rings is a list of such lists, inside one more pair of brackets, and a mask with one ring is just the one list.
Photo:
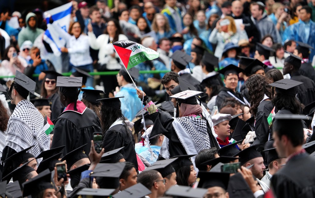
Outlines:
{"label": "grey mortarboard at bottom edge, just left of capless man with glasses", "polygon": [[145,187],[143,184],[138,183],[125,190],[120,191],[119,193],[113,195],[113,198],[141,198],[146,195],[151,194],[151,191]]}

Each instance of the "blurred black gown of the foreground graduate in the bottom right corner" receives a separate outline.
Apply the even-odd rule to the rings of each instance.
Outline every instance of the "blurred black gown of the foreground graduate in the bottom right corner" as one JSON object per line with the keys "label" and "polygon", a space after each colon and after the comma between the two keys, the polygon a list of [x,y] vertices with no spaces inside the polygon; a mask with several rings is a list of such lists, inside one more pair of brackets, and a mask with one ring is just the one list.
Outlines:
{"label": "blurred black gown of the foreground graduate in the bottom right corner", "polygon": [[315,197],[315,159],[307,153],[292,157],[271,178],[277,197]]}

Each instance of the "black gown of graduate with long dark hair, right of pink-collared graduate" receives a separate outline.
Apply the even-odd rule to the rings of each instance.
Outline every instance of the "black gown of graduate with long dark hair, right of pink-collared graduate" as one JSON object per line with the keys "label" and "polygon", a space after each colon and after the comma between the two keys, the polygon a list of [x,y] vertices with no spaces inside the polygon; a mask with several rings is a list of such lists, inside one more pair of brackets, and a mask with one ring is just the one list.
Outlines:
{"label": "black gown of graduate with long dark hair, right of pink-collared graduate", "polygon": [[[128,131],[127,131],[128,130]],[[120,151],[123,158],[135,165],[135,169],[138,170],[138,162],[135,151],[135,139],[129,129],[126,130],[125,125],[117,124],[110,127],[105,132],[103,139],[103,148],[105,152],[119,149],[124,146]]]}

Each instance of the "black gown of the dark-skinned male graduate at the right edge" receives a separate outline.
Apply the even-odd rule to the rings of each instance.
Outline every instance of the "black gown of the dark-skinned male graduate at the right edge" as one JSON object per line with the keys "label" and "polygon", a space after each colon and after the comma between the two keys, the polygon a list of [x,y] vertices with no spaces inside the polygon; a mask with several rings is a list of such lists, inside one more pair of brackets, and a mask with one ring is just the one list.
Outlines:
{"label": "black gown of the dark-skinned male graduate at the right edge", "polygon": [[311,79],[302,76],[300,72],[296,72],[291,75],[291,80],[304,82],[304,84],[296,87],[296,97],[300,99],[302,104],[308,105],[311,102],[315,101],[315,83]]}

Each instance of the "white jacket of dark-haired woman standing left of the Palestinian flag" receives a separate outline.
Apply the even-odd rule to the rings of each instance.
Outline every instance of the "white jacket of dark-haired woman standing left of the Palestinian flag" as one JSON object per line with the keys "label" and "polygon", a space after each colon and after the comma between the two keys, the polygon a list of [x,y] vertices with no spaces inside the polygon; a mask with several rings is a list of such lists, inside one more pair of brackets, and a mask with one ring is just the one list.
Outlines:
{"label": "white jacket of dark-haired woman standing left of the Palestinian flag", "polygon": [[[117,53],[115,53],[112,44],[109,42],[109,35],[102,34],[96,38],[93,32],[88,32],[88,36],[90,47],[95,50],[100,50],[98,54],[98,62],[100,63],[100,65],[107,64],[106,68],[108,70],[120,70],[121,65],[119,64],[119,62],[117,62],[117,59],[119,59],[119,57]],[[118,36],[118,40],[128,40],[128,38],[125,35],[120,34]],[[111,56],[112,53],[115,53],[115,58]]]}

